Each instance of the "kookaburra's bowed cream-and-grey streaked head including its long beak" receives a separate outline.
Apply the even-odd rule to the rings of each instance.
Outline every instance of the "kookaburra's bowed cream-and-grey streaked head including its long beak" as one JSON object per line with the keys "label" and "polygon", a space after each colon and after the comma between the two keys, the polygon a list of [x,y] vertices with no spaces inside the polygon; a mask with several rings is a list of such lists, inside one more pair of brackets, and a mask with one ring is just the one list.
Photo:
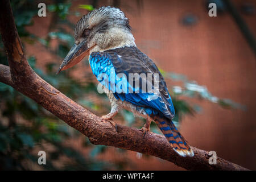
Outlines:
{"label": "kookaburra's bowed cream-and-grey streaked head including its long beak", "polygon": [[71,68],[91,52],[135,46],[129,20],[115,7],[100,7],[82,16],[74,30],[75,44],[60,65]]}

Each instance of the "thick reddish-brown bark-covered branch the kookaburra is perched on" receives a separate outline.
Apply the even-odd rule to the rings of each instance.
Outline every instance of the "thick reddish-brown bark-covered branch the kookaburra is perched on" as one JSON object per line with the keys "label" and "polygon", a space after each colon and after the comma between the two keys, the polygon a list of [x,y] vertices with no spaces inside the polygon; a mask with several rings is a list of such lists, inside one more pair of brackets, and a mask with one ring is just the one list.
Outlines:
{"label": "thick reddish-brown bark-covered branch the kookaburra is perched on", "polygon": [[141,130],[118,125],[97,117],[78,105],[59,90],[40,78],[28,65],[14,24],[10,2],[0,1],[0,30],[10,67],[0,64],[0,81],[31,98],[69,126],[86,135],[93,144],[114,146],[141,152],[168,160],[189,170],[248,170],[227,160],[217,158],[209,164],[209,152],[192,147],[193,158],[183,158],[172,150],[163,135],[148,133],[143,138]]}

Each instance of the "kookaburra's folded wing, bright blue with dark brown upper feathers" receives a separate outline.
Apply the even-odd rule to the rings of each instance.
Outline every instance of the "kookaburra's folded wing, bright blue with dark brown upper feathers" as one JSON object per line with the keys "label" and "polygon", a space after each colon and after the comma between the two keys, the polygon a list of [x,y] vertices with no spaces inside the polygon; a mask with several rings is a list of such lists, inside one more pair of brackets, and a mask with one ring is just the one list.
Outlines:
{"label": "kookaburra's folded wing, bright blue with dark brown upper feathers", "polygon": [[[160,114],[167,118],[174,118],[174,105],[166,82],[154,62],[137,47],[123,47],[104,52],[92,52],[89,57],[90,67],[97,80],[111,90],[117,99],[131,104],[145,107],[147,114]],[[120,74],[121,73],[121,74]],[[152,90],[158,84],[156,92],[145,91],[143,78],[139,78],[139,85],[131,84],[129,73],[152,73]],[[158,73],[158,80],[154,80],[154,73]],[[122,83],[122,85],[120,84]],[[123,86],[125,85],[126,86]],[[134,83],[134,82],[133,82]],[[119,86],[115,86],[115,85]],[[121,85],[121,86],[120,86]],[[129,89],[133,92],[129,92]],[[126,92],[122,92],[126,90]],[[142,91],[143,90],[143,91]]]}

